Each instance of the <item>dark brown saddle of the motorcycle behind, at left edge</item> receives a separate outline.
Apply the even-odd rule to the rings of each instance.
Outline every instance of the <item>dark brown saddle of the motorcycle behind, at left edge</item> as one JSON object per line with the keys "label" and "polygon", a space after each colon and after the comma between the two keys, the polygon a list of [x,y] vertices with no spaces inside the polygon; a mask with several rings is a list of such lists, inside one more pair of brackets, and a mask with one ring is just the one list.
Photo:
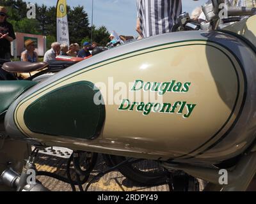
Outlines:
{"label": "dark brown saddle of the motorcycle behind, at left edge", "polygon": [[2,69],[8,72],[15,73],[29,73],[44,69],[48,66],[47,62],[6,62],[3,64]]}

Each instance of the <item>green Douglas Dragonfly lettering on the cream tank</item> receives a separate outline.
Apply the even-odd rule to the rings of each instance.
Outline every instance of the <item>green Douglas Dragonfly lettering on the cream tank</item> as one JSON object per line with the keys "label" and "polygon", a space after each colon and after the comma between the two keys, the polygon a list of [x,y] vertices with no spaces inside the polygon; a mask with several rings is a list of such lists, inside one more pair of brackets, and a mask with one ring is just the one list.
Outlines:
{"label": "green Douglas Dragonfly lettering on the cream tank", "polygon": [[[163,95],[166,92],[188,92],[191,82],[182,84],[172,80],[171,82],[147,82],[144,83],[142,80],[136,80],[131,91],[150,91],[157,92],[159,95]],[[143,103],[143,102],[132,102],[129,99],[123,99],[122,103],[118,107],[118,110],[128,110],[142,112],[143,115],[148,115],[150,112],[154,113],[177,113],[182,115],[183,118],[188,118],[193,112],[196,104],[188,103],[187,101],[175,101],[174,103]]]}

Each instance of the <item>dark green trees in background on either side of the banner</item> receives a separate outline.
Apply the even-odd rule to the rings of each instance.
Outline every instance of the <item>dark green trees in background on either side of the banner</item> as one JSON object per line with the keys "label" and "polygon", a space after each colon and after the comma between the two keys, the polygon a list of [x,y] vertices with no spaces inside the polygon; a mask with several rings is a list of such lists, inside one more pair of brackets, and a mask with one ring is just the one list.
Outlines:
{"label": "dark green trees in background on either side of the banner", "polygon": [[[0,0],[0,5],[8,9],[8,21],[13,24],[15,32],[45,35],[50,38],[47,40],[47,48],[56,39],[56,6],[36,4],[36,19],[29,19],[27,3],[22,0]],[[90,41],[92,30],[93,41],[99,45],[108,43],[108,30],[103,25],[99,28],[93,26],[92,29],[84,6],[67,6],[67,11],[70,43]]]}

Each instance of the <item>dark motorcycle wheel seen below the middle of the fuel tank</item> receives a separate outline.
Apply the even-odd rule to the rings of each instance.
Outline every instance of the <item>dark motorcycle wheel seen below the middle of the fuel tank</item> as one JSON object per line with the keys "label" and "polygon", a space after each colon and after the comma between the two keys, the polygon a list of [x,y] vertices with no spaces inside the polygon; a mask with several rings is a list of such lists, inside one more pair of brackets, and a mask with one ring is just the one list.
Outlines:
{"label": "dark motorcycle wheel seen below the middle of the fuel tank", "polygon": [[[116,166],[127,159],[127,157],[106,154],[103,157],[108,166]],[[157,161],[147,159],[124,164],[118,170],[127,179],[142,186],[159,186],[165,184],[167,179],[167,171]]]}

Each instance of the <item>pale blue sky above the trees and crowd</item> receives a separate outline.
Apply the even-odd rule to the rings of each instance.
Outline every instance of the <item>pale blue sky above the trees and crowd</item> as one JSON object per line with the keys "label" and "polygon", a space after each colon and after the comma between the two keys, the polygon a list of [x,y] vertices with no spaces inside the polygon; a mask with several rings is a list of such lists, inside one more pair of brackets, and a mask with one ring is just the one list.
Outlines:
{"label": "pale blue sky above the trees and crowd", "polygon": [[[193,11],[206,0],[182,0],[183,11]],[[29,0],[26,2],[55,6],[57,0]],[[69,6],[84,6],[92,19],[92,0],[67,0]],[[137,36],[136,26],[136,0],[93,0],[93,25],[105,25],[109,32],[115,30],[118,34]]]}

